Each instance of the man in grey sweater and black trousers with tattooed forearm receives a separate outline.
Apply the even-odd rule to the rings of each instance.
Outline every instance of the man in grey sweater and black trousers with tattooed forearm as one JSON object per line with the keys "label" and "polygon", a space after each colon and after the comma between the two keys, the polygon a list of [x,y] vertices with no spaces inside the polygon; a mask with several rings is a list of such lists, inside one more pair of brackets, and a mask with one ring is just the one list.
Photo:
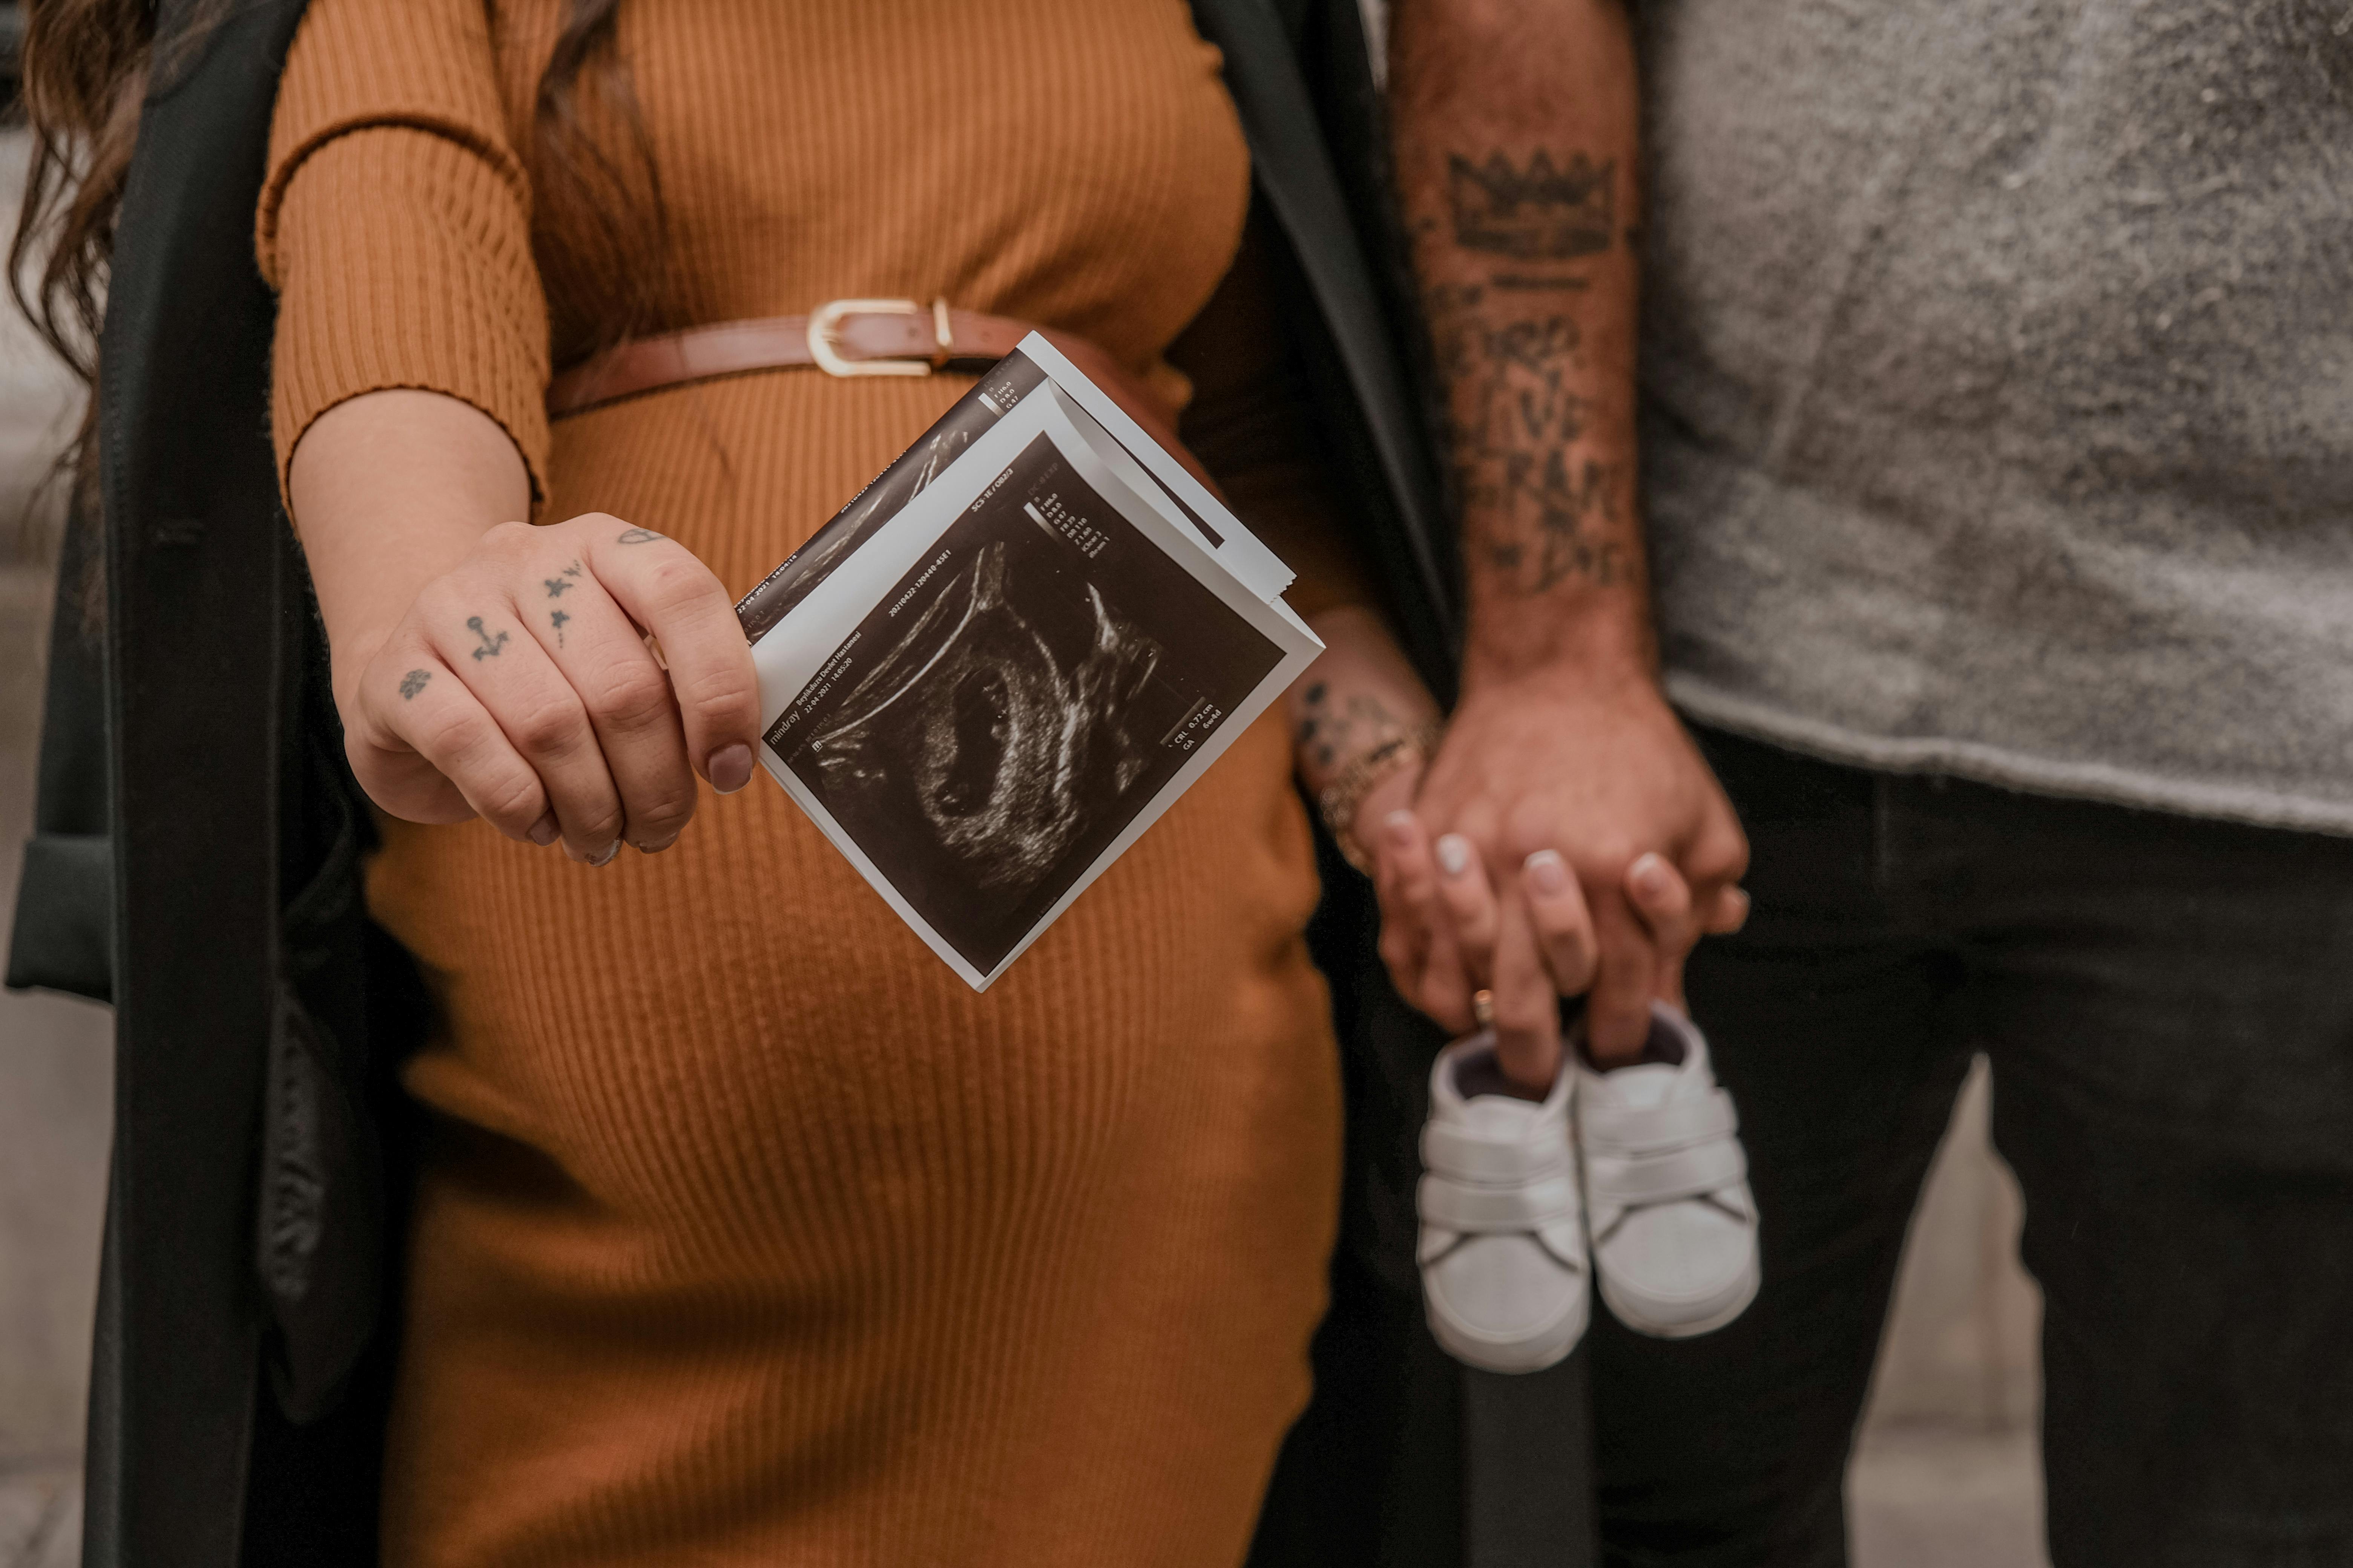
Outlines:
{"label": "man in grey sweater and black trousers with tattooed forearm", "polygon": [[1692,929],[1635,856],[1729,924],[1708,769],[1753,844],[1687,983],[1765,1288],[1595,1314],[1605,1559],[1845,1561],[1986,1051],[2054,1563],[2353,1563],[2344,7],[1405,0],[1391,78],[1471,604],[1419,816],[1560,844],[1598,1048]]}

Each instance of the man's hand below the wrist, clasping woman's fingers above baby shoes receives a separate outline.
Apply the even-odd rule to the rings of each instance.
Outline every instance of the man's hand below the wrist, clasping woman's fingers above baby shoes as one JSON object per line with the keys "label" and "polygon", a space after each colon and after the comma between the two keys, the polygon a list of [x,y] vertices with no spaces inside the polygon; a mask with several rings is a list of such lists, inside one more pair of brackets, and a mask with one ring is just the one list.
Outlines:
{"label": "man's hand below the wrist, clasping woman's fingers above baby shoes", "polygon": [[[1652,997],[1680,1001],[1682,959],[1699,936],[1737,929],[1748,910],[1737,886],[1748,842],[1732,804],[1659,689],[1633,668],[1614,677],[1548,670],[1468,689],[1414,816],[1433,837],[1471,842],[1497,889],[1494,964],[1513,973],[1541,947],[1525,910],[1558,903],[1522,886],[1527,860],[1548,849],[1567,860],[1593,929],[1588,1027],[1605,1063],[1642,1048]],[[1666,865],[1645,865],[1652,853]],[[1471,969],[1471,985],[1497,978],[1475,973],[1475,954]],[[1586,976],[1553,980],[1574,994]],[[1527,1058],[1513,1077],[1548,1081],[1558,1032],[1513,1023],[1525,1041],[1515,1056]]]}

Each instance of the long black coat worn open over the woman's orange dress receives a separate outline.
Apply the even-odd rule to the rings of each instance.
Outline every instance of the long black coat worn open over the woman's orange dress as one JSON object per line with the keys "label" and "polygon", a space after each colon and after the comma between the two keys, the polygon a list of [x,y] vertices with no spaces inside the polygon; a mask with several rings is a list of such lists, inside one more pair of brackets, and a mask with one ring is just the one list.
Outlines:
{"label": "long black coat worn open over the woman's orange dress", "polygon": [[[169,38],[214,7],[160,9]],[[61,607],[9,954],[9,985],[115,1004],[92,1568],[318,1568],[376,1552],[412,1164],[391,1067],[426,1013],[407,957],[360,903],[369,823],[268,437],[275,301],[252,214],[301,9],[242,0],[198,49],[160,52],[101,343],[104,639]],[[1362,550],[1447,691],[1454,543],[1407,371],[1414,329],[1355,0],[1193,9],[1226,54],[1259,200],[1289,242],[1287,317],[1355,484]],[[1440,1563],[1464,1537],[1466,1406],[1419,1326],[1412,1265],[1414,1133],[1438,1041],[1381,980],[1362,882],[1322,853],[1332,896],[1315,938],[1348,1041],[1348,1213],[1322,1392],[1285,1450],[1259,1561]]]}

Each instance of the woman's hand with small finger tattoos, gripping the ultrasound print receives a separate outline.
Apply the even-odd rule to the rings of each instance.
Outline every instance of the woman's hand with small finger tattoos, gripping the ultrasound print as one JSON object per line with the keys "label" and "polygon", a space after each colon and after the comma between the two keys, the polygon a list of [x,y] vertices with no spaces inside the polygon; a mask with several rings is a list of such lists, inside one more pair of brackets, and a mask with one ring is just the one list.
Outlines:
{"label": "woman's hand with small finger tattoos, gripping the ultrasound print", "polygon": [[358,665],[336,682],[351,769],[412,823],[482,816],[605,865],[624,842],[671,846],[696,771],[722,795],[751,783],[760,684],[734,602],[680,543],[605,512],[489,529],[336,665]]}

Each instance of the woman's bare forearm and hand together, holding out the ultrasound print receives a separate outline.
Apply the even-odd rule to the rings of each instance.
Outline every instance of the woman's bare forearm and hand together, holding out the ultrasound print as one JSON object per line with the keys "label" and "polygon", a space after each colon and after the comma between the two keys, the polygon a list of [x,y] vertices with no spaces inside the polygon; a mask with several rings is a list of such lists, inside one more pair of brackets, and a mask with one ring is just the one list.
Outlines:
{"label": "woman's bare forearm and hand together, holding out the ultrasound print", "polygon": [[696,773],[751,780],[760,689],[725,585],[621,517],[529,527],[529,473],[487,414],[353,397],[301,437],[287,491],[344,752],[388,813],[482,816],[607,865],[678,837]]}

